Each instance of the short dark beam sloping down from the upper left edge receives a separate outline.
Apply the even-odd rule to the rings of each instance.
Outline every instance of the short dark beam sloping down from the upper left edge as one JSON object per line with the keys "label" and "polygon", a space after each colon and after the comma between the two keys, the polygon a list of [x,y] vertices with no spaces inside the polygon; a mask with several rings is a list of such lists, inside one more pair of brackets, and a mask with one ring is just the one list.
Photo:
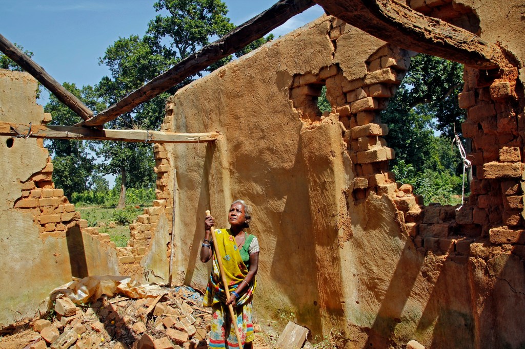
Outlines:
{"label": "short dark beam sloping down from the upper left edge", "polygon": [[35,63],[27,54],[20,51],[18,47],[13,45],[13,43],[7,40],[2,34],[0,34],[0,51],[4,52],[7,57],[15,61],[29,74],[33,75],[33,77],[51,91],[60,102],[67,105],[72,111],[77,113],[78,116],[84,120],[93,116],[90,108],[82,103],[77,96],[66,90],[64,86],[53,79],[44,68]]}

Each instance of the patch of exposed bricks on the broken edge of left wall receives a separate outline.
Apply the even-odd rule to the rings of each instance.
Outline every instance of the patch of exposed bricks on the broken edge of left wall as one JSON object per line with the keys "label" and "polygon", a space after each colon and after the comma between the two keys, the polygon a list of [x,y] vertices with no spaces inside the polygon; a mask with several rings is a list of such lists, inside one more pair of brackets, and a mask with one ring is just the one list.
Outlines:
{"label": "patch of exposed bricks on the broken edge of left wall", "polygon": [[75,205],[69,203],[64,196],[64,190],[55,189],[53,182],[53,163],[49,152],[44,148],[44,142],[39,140],[38,145],[47,152],[47,164],[36,172],[26,182],[20,183],[22,195],[15,202],[15,209],[27,210],[33,214],[35,225],[42,238],[66,237],[67,231],[72,227],[79,227],[83,233],[95,235],[102,242],[109,241],[108,234],[99,234],[97,228],[88,227],[88,221],[80,219],[80,212],[75,210]]}

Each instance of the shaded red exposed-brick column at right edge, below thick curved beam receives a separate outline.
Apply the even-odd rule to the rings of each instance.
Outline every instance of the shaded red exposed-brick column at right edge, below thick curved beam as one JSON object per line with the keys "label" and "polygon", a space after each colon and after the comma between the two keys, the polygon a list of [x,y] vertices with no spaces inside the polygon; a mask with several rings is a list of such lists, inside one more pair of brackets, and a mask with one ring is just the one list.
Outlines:
{"label": "shaded red exposed-brick column at right edge, below thick curved beam", "polygon": [[471,222],[485,226],[484,235],[489,227],[521,227],[525,116],[516,103],[518,70],[466,68],[465,77],[459,103],[468,110],[463,134],[472,139]]}

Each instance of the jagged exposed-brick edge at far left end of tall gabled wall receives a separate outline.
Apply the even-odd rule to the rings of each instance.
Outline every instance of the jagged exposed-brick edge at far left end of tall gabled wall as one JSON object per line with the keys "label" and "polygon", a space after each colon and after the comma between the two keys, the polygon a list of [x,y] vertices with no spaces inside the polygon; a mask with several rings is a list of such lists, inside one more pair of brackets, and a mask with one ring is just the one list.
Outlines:
{"label": "jagged exposed-brick edge at far left end of tall gabled wall", "polygon": [[[168,103],[166,107],[166,117],[161,126],[162,130],[167,130],[170,127],[169,123],[171,123],[172,120],[170,106],[171,104]],[[173,194],[169,188],[169,172],[171,171],[170,161],[166,147],[163,144],[155,144],[153,146],[153,151],[155,155],[155,168],[153,170],[157,174],[155,192],[157,200],[153,201],[153,207],[144,209],[143,214],[137,216],[137,220],[130,224],[130,240],[128,246],[117,248],[119,268],[123,275],[129,275],[130,273],[136,272],[136,268],[133,267],[139,267],[140,261],[149,251],[151,238],[153,237],[161,214],[166,215],[167,220],[170,222],[169,226],[171,231]],[[170,256],[170,252],[170,249],[166,251],[167,257]]]}

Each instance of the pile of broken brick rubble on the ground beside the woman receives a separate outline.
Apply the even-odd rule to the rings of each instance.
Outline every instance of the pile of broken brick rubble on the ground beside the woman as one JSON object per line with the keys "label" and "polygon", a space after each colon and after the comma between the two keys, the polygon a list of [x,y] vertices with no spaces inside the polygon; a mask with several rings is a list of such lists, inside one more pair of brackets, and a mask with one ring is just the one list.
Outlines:
{"label": "pile of broken brick rubble on the ground beside the woman", "polygon": [[25,348],[205,348],[212,315],[202,302],[190,287],[166,288],[156,298],[103,295],[85,305],[60,296],[47,319],[31,323]]}

